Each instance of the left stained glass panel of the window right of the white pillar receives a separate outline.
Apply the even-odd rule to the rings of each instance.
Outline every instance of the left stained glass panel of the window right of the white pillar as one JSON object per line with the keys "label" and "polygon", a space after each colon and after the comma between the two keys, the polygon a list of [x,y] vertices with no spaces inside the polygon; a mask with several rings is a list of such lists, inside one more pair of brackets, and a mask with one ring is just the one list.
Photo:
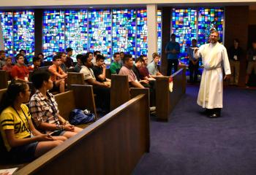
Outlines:
{"label": "left stained glass panel of the window right of the white pillar", "polygon": [[195,9],[173,9],[172,33],[181,46],[181,61],[187,63],[187,47],[197,37],[197,11]]}

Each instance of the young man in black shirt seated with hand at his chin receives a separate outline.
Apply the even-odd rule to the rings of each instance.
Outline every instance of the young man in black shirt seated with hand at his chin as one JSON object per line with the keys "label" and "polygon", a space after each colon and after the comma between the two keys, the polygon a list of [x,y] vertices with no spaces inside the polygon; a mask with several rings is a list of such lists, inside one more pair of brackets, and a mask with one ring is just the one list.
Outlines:
{"label": "young man in black shirt seated with hand at his chin", "polygon": [[94,76],[98,82],[103,82],[104,84],[111,85],[111,79],[106,78],[106,65],[104,63],[105,57],[103,55],[96,56],[96,63],[92,70],[94,71]]}

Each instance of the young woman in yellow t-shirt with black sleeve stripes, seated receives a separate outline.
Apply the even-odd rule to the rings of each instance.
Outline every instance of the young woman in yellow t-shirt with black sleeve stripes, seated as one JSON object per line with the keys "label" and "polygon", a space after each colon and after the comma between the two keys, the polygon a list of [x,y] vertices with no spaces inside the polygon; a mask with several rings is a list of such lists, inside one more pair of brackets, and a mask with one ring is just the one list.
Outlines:
{"label": "young woman in yellow t-shirt with black sleeve stripes, seated", "polygon": [[29,85],[21,79],[13,80],[0,102],[1,138],[8,159],[17,162],[34,160],[67,139],[42,134],[34,128],[29,108],[23,104],[29,96]]}

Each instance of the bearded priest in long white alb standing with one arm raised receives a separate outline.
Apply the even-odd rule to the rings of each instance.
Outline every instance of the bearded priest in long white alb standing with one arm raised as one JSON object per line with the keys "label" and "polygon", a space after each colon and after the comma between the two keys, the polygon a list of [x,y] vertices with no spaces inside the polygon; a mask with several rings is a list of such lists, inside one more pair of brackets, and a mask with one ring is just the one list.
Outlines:
{"label": "bearded priest in long white alb standing with one arm raised", "polygon": [[194,50],[195,58],[202,58],[204,67],[197,104],[206,108],[208,117],[220,117],[223,107],[222,69],[225,71],[224,79],[229,79],[231,74],[227,50],[218,40],[218,31],[212,31],[209,43]]}

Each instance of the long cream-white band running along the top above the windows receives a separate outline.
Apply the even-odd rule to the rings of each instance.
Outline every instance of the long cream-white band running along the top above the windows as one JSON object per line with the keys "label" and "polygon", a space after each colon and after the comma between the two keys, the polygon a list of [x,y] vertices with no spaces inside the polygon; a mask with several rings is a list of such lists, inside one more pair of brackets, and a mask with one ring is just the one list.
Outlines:
{"label": "long cream-white band running along the top above the windows", "polygon": [[44,6],[105,6],[111,7],[118,4],[127,4],[130,6],[146,5],[146,4],[176,4],[186,5],[187,3],[196,4],[209,4],[209,3],[255,3],[256,0],[0,0],[0,8],[4,7],[44,7]]}

